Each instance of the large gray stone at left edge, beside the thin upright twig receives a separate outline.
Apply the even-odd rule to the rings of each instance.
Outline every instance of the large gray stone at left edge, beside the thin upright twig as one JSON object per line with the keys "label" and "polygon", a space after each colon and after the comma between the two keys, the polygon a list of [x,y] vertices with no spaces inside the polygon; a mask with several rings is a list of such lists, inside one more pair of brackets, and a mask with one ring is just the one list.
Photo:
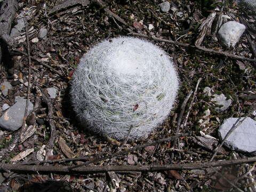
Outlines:
{"label": "large gray stone at left edge, beside the thin upright twig", "polygon": [[[0,117],[0,127],[8,131],[16,131],[22,126],[26,108],[26,99],[16,98],[17,101],[12,107],[7,109]],[[34,105],[29,101],[28,112],[33,110]]]}

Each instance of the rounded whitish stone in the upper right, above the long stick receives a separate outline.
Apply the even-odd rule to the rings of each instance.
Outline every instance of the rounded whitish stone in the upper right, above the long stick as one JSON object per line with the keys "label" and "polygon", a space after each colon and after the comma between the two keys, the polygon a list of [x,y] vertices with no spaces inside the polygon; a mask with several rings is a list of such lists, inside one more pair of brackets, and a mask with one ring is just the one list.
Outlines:
{"label": "rounded whitish stone in the upper right, above the long stick", "polygon": [[244,30],[245,26],[243,24],[236,21],[228,21],[218,31],[219,41],[227,47],[234,47],[244,33]]}

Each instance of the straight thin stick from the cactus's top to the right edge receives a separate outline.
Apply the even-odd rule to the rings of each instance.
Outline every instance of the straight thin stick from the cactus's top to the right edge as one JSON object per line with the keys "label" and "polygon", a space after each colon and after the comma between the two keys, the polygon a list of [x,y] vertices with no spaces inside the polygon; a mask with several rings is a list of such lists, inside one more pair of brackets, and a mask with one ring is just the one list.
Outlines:
{"label": "straight thin stick from the cactus's top to the right edge", "polygon": [[144,37],[144,38],[148,38],[148,39],[153,39],[154,41],[165,42],[165,43],[170,43],[170,44],[173,44],[173,45],[179,45],[179,46],[185,46],[185,47],[191,47],[191,48],[198,49],[198,50],[205,51],[205,52],[209,52],[209,53],[225,55],[226,57],[230,57],[230,58],[233,58],[233,59],[246,60],[246,61],[251,61],[251,62],[256,63],[255,59],[250,59],[250,58],[242,57],[242,56],[239,56],[239,55],[230,54],[230,53],[224,52],[224,51],[215,51],[215,50],[212,50],[212,49],[207,49],[207,48],[202,47],[202,46],[194,46],[194,45],[190,45],[188,43],[180,43],[180,42],[176,42],[176,41],[172,41],[172,40],[158,38],[158,37],[155,37],[155,36],[147,36],[147,35],[144,35],[144,34],[138,34],[138,33],[133,33],[133,32],[130,32],[129,34],[133,35],[133,36],[139,36],[139,37]]}

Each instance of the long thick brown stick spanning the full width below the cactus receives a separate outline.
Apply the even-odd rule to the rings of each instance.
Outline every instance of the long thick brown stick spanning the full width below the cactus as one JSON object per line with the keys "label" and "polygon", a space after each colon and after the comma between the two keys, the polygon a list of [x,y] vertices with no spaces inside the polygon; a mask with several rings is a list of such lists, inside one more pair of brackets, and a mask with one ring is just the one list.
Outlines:
{"label": "long thick brown stick spanning the full width below the cactus", "polygon": [[76,167],[70,171],[70,166],[37,166],[37,165],[21,165],[21,164],[5,164],[0,163],[0,172],[10,170],[30,171],[30,172],[55,172],[55,173],[88,173],[88,172],[108,172],[108,171],[163,171],[163,170],[196,170],[206,169],[210,167],[220,167],[228,165],[238,165],[243,163],[256,162],[256,157],[249,157],[244,159],[235,159],[218,162],[203,162],[203,163],[185,163],[185,164],[167,164],[167,165],[149,165],[149,166],[83,166]]}

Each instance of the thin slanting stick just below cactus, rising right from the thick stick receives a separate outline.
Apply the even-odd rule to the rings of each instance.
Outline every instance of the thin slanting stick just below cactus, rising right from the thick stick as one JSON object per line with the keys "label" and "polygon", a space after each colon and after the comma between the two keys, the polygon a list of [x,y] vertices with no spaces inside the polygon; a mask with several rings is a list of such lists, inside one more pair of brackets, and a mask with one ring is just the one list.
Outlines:
{"label": "thin slanting stick just below cactus, rising right from the thick stick", "polygon": [[151,143],[147,143],[145,145],[135,146],[135,147],[133,147],[131,149],[127,149],[127,150],[124,150],[124,151],[121,151],[121,152],[117,152],[117,153],[108,155],[106,157],[94,159],[92,161],[88,161],[88,162],[80,164],[80,165],[72,166],[72,167],[69,167],[68,169],[69,170],[73,170],[73,169],[75,169],[77,167],[80,167],[80,166],[84,166],[84,165],[87,165],[87,164],[90,164],[90,163],[97,163],[97,162],[100,162],[100,161],[103,161],[103,160],[106,160],[106,159],[109,159],[109,158],[113,158],[113,157],[116,157],[116,156],[119,156],[119,155],[125,155],[125,154],[130,153],[130,152],[132,152],[134,150],[143,149],[143,148],[145,148],[147,146],[156,145],[158,143],[162,143],[162,142],[165,142],[165,141],[172,141],[175,138],[186,137],[186,136],[189,136],[189,135],[190,135],[189,133],[174,135],[174,136],[171,136],[169,138],[160,139],[160,140],[157,140],[157,141],[154,141],[154,142],[151,142]]}

